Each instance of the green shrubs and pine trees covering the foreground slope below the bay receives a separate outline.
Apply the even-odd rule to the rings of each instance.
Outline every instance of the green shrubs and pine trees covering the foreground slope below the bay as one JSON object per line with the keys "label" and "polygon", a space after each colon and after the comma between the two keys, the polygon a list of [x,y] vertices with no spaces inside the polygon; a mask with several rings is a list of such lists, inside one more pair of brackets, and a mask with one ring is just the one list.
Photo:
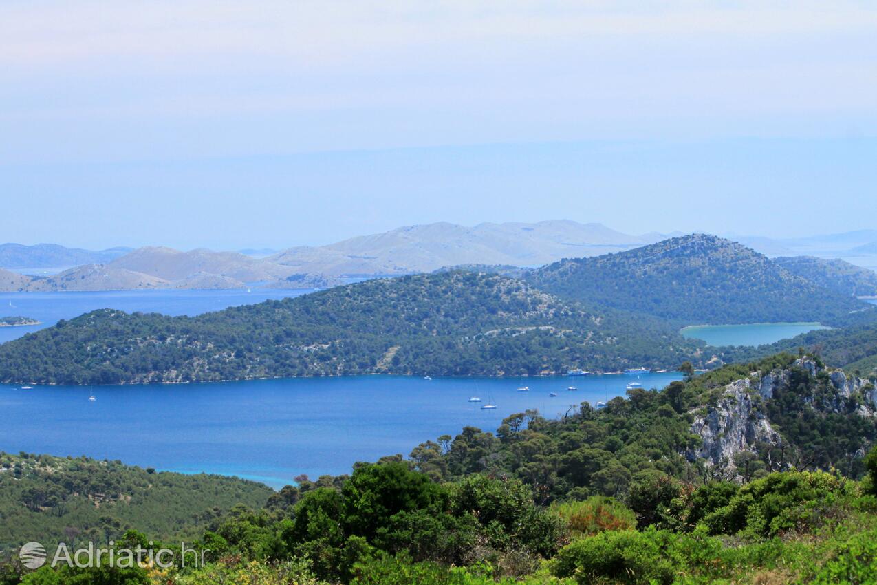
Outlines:
{"label": "green shrubs and pine trees covering the foreground slope below the bay", "polygon": [[[193,545],[206,567],[178,558],[165,570],[44,567],[24,572],[24,582],[873,582],[877,449],[861,456],[875,439],[873,404],[846,396],[837,374],[781,354],[664,392],[631,390],[602,410],[582,403],[558,420],[512,415],[496,433],[467,427],[417,446],[408,460],[300,477],[264,506],[206,517]],[[761,396],[768,379],[781,382]],[[711,465],[694,456],[701,437],[693,423],[719,407],[729,385],[748,389],[757,408],[738,424],[764,415],[783,440]],[[850,408],[857,401],[866,415]],[[143,526],[132,528],[153,538]],[[122,543],[146,534],[129,531]],[[0,583],[21,574],[13,563],[0,569]]]}

